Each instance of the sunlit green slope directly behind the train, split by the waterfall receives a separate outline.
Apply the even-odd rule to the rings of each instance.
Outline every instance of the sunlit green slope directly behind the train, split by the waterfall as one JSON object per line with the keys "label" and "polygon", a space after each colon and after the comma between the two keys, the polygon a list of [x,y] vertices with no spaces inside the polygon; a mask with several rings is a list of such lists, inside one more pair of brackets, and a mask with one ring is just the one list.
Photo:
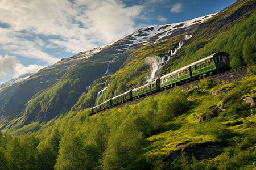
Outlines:
{"label": "sunlit green slope directly behind the train, split by the waterfall", "polygon": [[[172,58],[170,62],[163,67],[159,75],[170,73],[191,62],[220,51],[230,54],[230,65],[233,69],[256,62],[256,44],[254,42],[256,38],[255,18],[256,11],[253,10],[243,16],[240,22],[229,25],[229,28],[221,28],[218,32],[214,33],[208,32],[209,36],[207,39],[202,39],[201,36],[196,35],[192,37],[191,40],[185,41],[187,45],[184,45],[183,48],[178,51],[177,56]],[[213,24],[215,23],[216,22]],[[104,88],[104,84],[106,86],[106,80],[108,80],[109,86],[104,91],[104,94],[96,99],[95,105],[131,88],[141,86],[145,80],[145,76],[150,73],[150,68],[144,64],[146,58],[164,56],[170,49],[174,49],[175,46],[179,44],[179,41],[183,40],[183,37],[184,35],[176,36],[155,44],[143,46],[131,52],[126,52],[129,54],[127,58],[130,58],[131,62],[118,70],[117,73],[106,77],[106,79],[101,82],[101,89]],[[92,88],[90,94],[96,94],[98,91],[98,88]],[[82,99],[84,98],[88,98],[88,95],[82,96]],[[77,105],[85,103],[88,104],[88,101],[83,102],[80,100]],[[89,107],[89,105],[85,105],[85,107]],[[79,108],[81,108],[81,106]]]}

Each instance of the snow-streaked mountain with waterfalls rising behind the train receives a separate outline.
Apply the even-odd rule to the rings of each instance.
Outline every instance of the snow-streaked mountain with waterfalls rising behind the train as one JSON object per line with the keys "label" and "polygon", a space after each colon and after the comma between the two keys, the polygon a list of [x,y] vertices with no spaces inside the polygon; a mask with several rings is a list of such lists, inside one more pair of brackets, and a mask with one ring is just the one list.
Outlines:
{"label": "snow-streaked mountain with waterfalls rising behind the train", "polygon": [[[233,68],[253,63],[254,18],[255,2],[238,0],[216,14],[141,28],[113,44],[61,59],[15,86],[2,84],[11,93],[0,100],[0,129],[92,107],[214,52],[230,53]],[[155,61],[158,71],[150,77]]]}

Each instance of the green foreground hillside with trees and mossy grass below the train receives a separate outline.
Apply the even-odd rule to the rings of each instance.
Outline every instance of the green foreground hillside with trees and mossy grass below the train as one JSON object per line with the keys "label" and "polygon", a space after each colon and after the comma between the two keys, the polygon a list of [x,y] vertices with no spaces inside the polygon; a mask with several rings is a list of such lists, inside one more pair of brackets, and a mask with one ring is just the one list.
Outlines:
{"label": "green foreground hillside with trees and mossy grass below the train", "polygon": [[[243,99],[255,100],[255,66],[249,74],[230,84],[203,79],[200,88],[177,87],[93,116],[81,109],[47,124],[10,129],[0,134],[0,166],[253,169],[256,108]],[[224,93],[214,96],[212,91]]]}

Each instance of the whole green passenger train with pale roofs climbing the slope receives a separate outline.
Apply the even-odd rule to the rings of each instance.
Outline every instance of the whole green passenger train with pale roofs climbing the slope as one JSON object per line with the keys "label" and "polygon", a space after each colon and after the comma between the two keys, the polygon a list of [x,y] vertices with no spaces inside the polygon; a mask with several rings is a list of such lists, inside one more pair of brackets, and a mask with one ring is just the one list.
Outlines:
{"label": "whole green passenger train with pale roofs climbing the slope", "polygon": [[133,90],[124,92],[123,94],[115,96],[112,99],[106,100],[104,103],[92,107],[91,114],[95,114],[130,100],[138,99],[139,97],[150,95],[157,91],[172,88],[175,85],[191,82],[195,79],[201,79],[204,76],[223,73],[230,69],[229,54],[226,52],[217,52],[178,70],[172,71],[169,74],[163,75],[159,79],[155,79],[148,84],[144,84],[143,86],[134,88]]}

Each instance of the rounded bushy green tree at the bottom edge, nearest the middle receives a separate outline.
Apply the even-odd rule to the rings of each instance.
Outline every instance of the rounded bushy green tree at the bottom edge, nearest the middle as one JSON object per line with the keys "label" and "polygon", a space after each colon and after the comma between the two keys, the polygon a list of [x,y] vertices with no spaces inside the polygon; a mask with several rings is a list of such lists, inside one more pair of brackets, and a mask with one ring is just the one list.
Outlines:
{"label": "rounded bushy green tree at the bottom edge, nearest the middle", "polygon": [[141,151],[144,138],[142,133],[137,130],[134,122],[127,120],[122,122],[116,133],[110,137],[108,149],[104,153],[103,168],[117,169],[127,167],[137,158]]}

